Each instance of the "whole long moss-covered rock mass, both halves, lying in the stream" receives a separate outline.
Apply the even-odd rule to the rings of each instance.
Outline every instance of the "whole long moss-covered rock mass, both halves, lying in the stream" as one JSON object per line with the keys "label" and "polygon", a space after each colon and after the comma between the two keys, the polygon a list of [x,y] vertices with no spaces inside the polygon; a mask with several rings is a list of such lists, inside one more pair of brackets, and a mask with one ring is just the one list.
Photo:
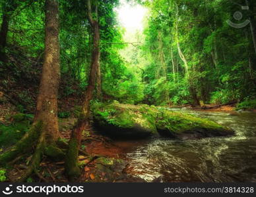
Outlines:
{"label": "whole long moss-covered rock mass, both halves, lying in the stream", "polygon": [[201,139],[233,135],[234,131],[214,121],[147,105],[112,104],[92,106],[94,125],[112,137],[158,136]]}

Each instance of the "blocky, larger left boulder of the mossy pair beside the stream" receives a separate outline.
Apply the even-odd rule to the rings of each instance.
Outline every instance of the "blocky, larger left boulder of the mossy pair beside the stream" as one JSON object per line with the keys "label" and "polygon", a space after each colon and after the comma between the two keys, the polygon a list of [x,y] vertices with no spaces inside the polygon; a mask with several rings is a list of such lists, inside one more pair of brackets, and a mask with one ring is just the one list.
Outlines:
{"label": "blocky, larger left boulder of the mossy pair beside the stream", "polygon": [[119,104],[92,107],[94,125],[106,135],[122,138],[144,138],[158,135],[156,112],[147,105]]}

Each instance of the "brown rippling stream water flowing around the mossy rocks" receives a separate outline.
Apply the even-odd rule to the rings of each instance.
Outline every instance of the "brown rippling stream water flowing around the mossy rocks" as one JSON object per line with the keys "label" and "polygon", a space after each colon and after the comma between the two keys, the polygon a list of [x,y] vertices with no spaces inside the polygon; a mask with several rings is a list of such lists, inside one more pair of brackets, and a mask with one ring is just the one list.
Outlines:
{"label": "brown rippling stream water flowing around the mossy rocks", "polygon": [[117,142],[125,148],[129,173],[146,181],[161,177],[164,182],[256,182],[256,113],[181,112],[231,127],[236,135]]}

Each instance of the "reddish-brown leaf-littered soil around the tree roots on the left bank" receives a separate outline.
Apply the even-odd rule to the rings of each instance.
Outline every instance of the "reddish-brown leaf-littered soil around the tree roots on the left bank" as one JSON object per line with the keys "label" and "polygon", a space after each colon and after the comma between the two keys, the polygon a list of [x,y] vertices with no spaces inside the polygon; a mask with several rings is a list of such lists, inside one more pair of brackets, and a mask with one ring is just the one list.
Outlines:
{"label": "reddish-brown leaf-littered soil around the tree roots on the left bank", "polygon": [[[18,112],[15,106],[9,102],[0,104],[0,123],[1,125],[15,124],[10,118]],[[59,131],[61,137],[69,141],[71,129],[77,118],[59,118]],[[18,132],[18,131],[17,131]],[[2,131],[0,131],[0,135]],[[143,179],[127,175],[125,167],[128,162],[121,155],[124,152],[121,146],[113,143],[112,139],[104,137],[95,131],[93,127],[86,128],[83,134],[81,148],[86,152],[80,152],[79,162],[81,164],[82,173],[78,182],[144,182]],[[9,149],[9,146],[3,146],[0,153]],[[15,182],[22,177],[28,163],[31,160],[32,152],[21,155],[13,160],[7,166],[7,181]],[[67,182],[64,172],[63,161],[53,161],[43,157],[40,164],[38,174],[32,175],[27,182]]]}

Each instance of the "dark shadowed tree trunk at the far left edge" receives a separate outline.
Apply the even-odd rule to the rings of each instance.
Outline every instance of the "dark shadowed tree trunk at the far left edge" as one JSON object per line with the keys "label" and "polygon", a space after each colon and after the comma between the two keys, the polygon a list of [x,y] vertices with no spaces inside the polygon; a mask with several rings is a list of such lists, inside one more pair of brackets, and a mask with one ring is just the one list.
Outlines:
{"label": "dark shadowed tree trunk at the far left edge", "polygon": [[9,15],[3,14],[3,21],[0,30],[0,61],[5,62],[5,47],[7,43],[7,32],[9,28]]}

